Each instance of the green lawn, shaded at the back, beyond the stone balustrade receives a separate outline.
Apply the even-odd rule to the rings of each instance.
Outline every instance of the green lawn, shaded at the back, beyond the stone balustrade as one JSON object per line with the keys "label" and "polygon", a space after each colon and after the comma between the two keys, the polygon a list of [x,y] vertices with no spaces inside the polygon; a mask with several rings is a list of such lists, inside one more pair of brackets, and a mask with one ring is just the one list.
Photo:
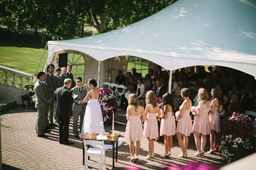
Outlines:
{"label": "green lawn, shaded at the back, beyond the stone balustrade", "polygon": [[[47,41],[51,40],[47,37]],[[0,32],[0,65],[34,74],[45,45],[41,45],[41,37],[34,35],[18,34],[12,32]],[[47,61],[48,51],[41,62],[39,70],[43,70]],[[0,71],[1,81],[3,83],[4,73]],[[11,75],[8,74],[9,81]],[[16,84],[18,83],[16,77]],[[23,79],[26,84],[25,78]]]}

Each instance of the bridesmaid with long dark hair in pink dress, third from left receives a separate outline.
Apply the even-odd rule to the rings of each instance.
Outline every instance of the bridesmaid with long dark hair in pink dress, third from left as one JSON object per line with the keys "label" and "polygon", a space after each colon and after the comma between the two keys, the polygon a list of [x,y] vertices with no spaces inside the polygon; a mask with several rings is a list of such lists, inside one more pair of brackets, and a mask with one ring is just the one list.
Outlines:
{"label": "bridesmaid with long dark hair in pink dress, third from left", "polygon": [[163,115],[161,115],[160,136],[164,137],[165,154],[162,157],[166,158],[172,154],[170,149],[173,145],[173,135],[175,134],[176,124],[173,111],[175,110],[173,96],[170,93],[163,95]]}

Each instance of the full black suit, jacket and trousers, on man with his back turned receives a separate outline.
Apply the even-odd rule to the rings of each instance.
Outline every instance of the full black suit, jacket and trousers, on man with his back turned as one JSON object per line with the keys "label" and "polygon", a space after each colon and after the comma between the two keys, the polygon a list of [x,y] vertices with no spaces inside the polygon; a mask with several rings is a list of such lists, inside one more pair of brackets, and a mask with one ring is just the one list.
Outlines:
{"label": "full black suit, jacket and trousers, on man with his back turned", "polygon": [[59,143],[69,142],[69,123],[74,99],[72,92],[67,86],[56,90],[57,108],[56,114],[59,116]]}

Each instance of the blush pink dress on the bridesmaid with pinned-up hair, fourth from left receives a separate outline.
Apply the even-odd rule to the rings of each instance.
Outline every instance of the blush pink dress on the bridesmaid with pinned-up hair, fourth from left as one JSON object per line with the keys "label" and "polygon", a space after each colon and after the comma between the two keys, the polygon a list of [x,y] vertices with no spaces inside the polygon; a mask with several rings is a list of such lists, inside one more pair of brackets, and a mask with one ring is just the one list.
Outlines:
{"label": "blush pink dress on the bridesmaid with pinned-up hair, fourth from left", "polygon": [[176,133],[180,132],[185,136],[190,136],[190,133],[193,133],[192,120],[189,113],[190,110],[185,110],[183,116],[179,119]]}

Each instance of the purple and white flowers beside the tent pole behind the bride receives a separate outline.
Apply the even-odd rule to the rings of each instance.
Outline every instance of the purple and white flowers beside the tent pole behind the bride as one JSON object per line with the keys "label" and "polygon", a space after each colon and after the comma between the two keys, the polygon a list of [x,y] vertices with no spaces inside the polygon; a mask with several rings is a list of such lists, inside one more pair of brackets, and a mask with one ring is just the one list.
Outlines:
{"label": "purple and white flowers beside the tent pole behind the bride", "polygon": [[103,121],[112,122],[113,112],[116,113],[117,111],[116,94],[110,89],[98,88],[98,90]]}

